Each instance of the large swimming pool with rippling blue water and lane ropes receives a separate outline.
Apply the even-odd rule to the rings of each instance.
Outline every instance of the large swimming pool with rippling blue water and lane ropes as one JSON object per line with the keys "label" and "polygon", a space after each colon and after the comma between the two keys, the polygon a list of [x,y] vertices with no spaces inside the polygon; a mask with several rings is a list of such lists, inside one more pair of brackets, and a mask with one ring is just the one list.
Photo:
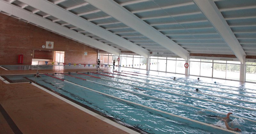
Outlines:
{"label": "large swimming pool with rippling blue water and lane ropes", "polygon": [[[256,133],[254,86],[196,81],[141,72],[90,72],[2,76],[32,81],[140,133]],[[199,91],[195,91],[198,88]]]}

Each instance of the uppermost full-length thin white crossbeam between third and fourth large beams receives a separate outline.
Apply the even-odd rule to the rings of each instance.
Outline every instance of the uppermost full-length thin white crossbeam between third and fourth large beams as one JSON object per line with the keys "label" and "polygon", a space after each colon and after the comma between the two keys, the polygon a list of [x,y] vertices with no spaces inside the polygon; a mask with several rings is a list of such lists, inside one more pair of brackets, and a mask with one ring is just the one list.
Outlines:
{"label": "uppermost full-length thin white crossbeam between third and fourth large beams", "polygon": [[169,5],[169,6],[163,6],[163,7],[156,7],[156,8],[149,8],[149,9],[131,11],[131,13],[141,13],[141,12],[148,12],[148,11],[157,11],[157,10],[170,9],[170,8],[176,8],[176,7],[188,6],[188,5],[194,5],[194,2],[187,2],[187,3],[182,3],[182,4],[176,4],[176,5]]}

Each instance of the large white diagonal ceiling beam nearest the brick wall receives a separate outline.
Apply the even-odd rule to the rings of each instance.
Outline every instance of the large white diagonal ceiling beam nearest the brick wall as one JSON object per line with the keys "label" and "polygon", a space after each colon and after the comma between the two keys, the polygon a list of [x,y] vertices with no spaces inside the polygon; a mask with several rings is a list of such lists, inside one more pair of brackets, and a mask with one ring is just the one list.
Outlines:
{"label": "large white diagonal ceiling beam nearest the brick wall", "polygon": [[10,13],[13,16],[16,16],[21,19],[32,22],[33,24],[39,25],[40,27],[44,27],[45,29],[51,29],[51,31],[59,33],[60,35],[66,36],[70,39],[80,41],[84,44],[88,44],[89,46],[104,50],[109,53],[113,53],[116,55],[119,54],[119,50],[114,47],[108,46],[102,42],[95,40],[95,39],[91,39],[87,36],[84,36],[80,33],[75,32],[73,30],[69,30],[67,28],[64,28],[64,27],[58,25],[58,24],[52,23],[51,21],[49,21],[45,18],[39,17],[39,16],[32,14],[28,11],[22,10],[21,8],[18,8],[16,6],[8,4],[4,1],[0,1],[0,10],[4,11],[6,13]]}

